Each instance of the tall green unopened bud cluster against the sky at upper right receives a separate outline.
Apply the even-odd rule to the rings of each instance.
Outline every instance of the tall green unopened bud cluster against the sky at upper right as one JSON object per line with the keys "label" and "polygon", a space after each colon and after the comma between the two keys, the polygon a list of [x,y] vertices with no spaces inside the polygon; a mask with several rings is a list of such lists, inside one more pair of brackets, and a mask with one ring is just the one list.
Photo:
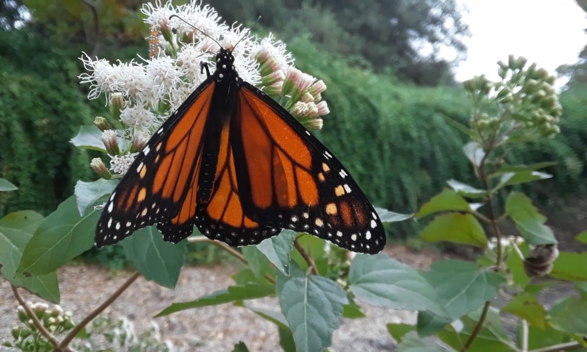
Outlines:
{"label": "tall green unopened bud cluster against the sky at upper right", "polygon": [[[529,140],[560,133],[557,124],[562,106],[552,87],[555,77],[535,63],[527,66],[527,62],[525,57],[510,55],[507,63],[498,62],[500,82],[477,76],[463,83],[477,106],[470,123],[481,139]],[[497,111],[483,109],[492,103],[497,103]]]}

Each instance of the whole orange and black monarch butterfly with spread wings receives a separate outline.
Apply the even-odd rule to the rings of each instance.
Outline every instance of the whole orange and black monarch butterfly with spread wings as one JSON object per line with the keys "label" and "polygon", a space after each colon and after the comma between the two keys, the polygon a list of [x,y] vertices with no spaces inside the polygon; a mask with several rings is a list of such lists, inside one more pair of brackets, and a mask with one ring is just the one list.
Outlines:
{"label": "whole orange and black monarch butterfly with spread wings", "polygon": [[[219,45],[220,46],[220,45]],[[197,226],[231,246],[280,229],[377,253],[385,232],[365,194],[298,120],[234,69],[232,50],[161,126],[110,195],[96,246],[157,224],[167,242]]]}

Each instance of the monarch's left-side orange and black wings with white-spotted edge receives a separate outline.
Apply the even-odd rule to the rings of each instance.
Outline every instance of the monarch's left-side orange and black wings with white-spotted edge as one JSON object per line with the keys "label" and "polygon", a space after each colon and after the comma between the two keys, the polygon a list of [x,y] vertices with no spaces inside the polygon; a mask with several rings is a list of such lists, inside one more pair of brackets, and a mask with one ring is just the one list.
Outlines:
{"label": "monarch's left-side orange and black wings with white-spotted edge", "polygon": [[168,242],[192,233],[194,184],[214,86],[212,79],[201,84],[136,156],[104,205],[96,246],[111,245],[153,224]]}

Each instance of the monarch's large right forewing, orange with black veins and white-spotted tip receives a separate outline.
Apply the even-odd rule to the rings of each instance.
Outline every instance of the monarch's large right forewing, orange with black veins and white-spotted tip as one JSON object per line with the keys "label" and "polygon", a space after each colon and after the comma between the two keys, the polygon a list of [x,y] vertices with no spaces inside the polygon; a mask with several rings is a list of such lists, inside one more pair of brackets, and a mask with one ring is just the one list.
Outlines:
{"label": "monarch's large right forewing, orange with black veins and white-spotted tip", "polygon": [[377,253],[385,232],[340,162],[283,107],[241,84],[231,144],[245,215],[308,232],[354,252]]}

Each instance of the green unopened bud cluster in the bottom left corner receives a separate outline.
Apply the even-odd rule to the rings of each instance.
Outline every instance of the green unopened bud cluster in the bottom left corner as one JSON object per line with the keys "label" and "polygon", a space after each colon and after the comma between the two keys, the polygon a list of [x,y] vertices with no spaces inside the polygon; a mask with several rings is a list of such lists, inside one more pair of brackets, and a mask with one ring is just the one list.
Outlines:
{"label": "green unopened bud cluster in the bottom left corner", "polygon": [[[33,314],[39,322],[53,336],[59,335],[64,331],[73,329],[72,313],[63,312],[62,307],[55,305],[49,309],[46,303],[27,302]],[[52,351],[52,344],[43,338],[33,319],[26,312],[25,307],[18,306],[16,309],[18,320],[22,323],[12,328],[11,334],[14,341],[4,340],[1,345],[5,347],[16,347],[21,351]]]}

